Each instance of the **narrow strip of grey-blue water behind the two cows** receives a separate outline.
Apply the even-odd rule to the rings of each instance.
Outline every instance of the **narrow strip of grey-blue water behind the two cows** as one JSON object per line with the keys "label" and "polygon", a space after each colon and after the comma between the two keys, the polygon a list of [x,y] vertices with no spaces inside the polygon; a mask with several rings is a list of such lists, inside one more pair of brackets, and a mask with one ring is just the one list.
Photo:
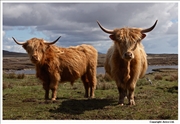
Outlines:
{"label": "narrow strip of grey-blue water behind the two cows", "polygon": [[[168,65],[168,66],[148,66],[148,69],[146,71],[146,74],[148,73],[152,73],[153,69],[158,69],[158,68],[178,68],[178,65]],[[9,71],[10,72],[10,71]],[[36,71],[34,69],[25,69],[25,70],[17,70],[17,71],[13,71],[16,74],[36,74]],[[105,70],[104,67],[98,67],[97,68],[97,74],[105,74]]]}

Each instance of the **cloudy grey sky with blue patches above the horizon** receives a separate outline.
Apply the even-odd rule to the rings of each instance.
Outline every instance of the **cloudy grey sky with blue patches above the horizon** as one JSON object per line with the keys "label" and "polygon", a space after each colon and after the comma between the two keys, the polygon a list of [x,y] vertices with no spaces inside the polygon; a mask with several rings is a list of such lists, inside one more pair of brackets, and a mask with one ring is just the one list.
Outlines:
{"label": "cloudy grey sky with blue patches above the horizon", "polygon": [[106,53],[113,44],[108,29],[122,27],[155,29],[142,41],[147,53],[178,53],[178,3],[3,3],[3,50],[25,52],[18,41],[43,38],[53,41],[61,36],[58,46],[93,45]]}

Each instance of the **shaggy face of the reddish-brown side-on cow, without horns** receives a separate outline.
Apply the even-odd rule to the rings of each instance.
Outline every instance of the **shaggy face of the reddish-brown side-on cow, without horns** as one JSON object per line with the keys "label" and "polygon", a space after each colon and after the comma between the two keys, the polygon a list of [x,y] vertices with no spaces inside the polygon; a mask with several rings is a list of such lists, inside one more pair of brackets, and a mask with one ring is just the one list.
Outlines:
{"label": "shaggy face of the reddish-brown side-on cow, without horns", "polygon": [[41,61],[47,45],[44,44],[43,39],[32,38],[23,44],[23,48],[27,51],[32,63],[37,64]]}

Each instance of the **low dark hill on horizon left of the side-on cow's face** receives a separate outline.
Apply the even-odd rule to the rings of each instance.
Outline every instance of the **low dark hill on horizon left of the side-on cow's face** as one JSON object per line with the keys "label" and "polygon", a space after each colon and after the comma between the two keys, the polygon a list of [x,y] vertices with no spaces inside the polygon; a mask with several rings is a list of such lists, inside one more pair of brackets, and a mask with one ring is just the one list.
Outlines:
{"label": "low dark hill on horizon left of the side-on cow's face", "polygon": [[27,57],[27,53],[18,53],[18,52],[9,52],[6,50],[3,50],[3,56],[4,57],[11,57],[11,56],[18,56],[18,57]]}

